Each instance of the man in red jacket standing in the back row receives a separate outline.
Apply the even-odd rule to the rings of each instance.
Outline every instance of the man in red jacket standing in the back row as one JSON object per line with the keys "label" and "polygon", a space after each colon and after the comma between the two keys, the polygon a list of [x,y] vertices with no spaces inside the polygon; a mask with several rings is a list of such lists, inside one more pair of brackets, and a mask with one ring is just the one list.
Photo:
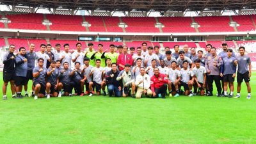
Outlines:
{"label": "man in red jacket standing in the back row", "polygon": [[131,54],[128,54],[128,47],[124,45],[123,47],[123,53],[119,54],[117,58],[117,65],[119,67],[119,70],[124,70],[124,65],[129,63],[131,66],[133,65],[133,60]]}

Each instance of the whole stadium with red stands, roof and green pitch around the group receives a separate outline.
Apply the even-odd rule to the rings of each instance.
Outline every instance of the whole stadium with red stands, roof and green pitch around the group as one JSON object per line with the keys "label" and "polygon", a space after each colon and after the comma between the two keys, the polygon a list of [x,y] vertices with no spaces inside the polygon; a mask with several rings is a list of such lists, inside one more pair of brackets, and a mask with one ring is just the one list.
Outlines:
{"label": "whole stadium with red stands, roof and green pitch around the group", "polygon": [[[158,46],[161,54],[166,54],[166,47],[173,53],[175,45],[179,45],[179,51],[188,45],[189,51],[195,48],[196,53],[202,51],[205,55],[207,44],[215,47],[218,54],[223,51],[222,45],[227,44],[236,55],[239,47],[245,47],[245,54],[252,63],[250,100],[246,99],[244,82],[240,99],[216,97],[215,84],[213,97],[182,95],[166,96],[166,99],[131,99],[84,95],[12,99],[8,84],[8,100],[0,100],[0,141],[256,143],[255,8],[256,1],[250,0],[0,1],[1,77],[4,55],[11,45],[15,45],[15,54],[20,47],[28,51],[31,44],[35,45],[35,52],[41,51],[42,44],[50,44],[52,51],[60,44],[61,52],[68,44],[69,52],[74,52],[79,43],[83,52],[89,51],[90,44],[99,51],[101,44],[104,52],[109,51],[110,45],[123,45],[130,53],[131,47],[136,49],[147,43],[148,47]],[[235,95],[236,80],[237,77]],[[3,78],[0,83],[3,86]],[[32,92],[32,85],[29,81],[28,92]]]}

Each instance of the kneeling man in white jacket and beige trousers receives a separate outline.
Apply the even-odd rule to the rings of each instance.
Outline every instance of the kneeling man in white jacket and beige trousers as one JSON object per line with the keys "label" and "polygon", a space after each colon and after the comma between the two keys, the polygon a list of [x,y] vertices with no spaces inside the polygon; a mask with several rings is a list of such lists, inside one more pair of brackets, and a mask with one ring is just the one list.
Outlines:
{"label": "kneeling man in white jacket and beige trousers", "polygon": [[150,90],[150,77],[145,74],[145,68],[140,68],[140,74],[136,77],[135,85],[138,86],[136,93],[136,99],[140,99],[141,95],[144,94],[146,97],[151,97],[152,90]]}

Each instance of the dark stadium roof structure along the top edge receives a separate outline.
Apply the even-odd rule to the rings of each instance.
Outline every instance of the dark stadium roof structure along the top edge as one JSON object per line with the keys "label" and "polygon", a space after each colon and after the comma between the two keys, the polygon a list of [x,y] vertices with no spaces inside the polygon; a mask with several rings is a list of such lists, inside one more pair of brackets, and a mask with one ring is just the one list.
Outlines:
{"label": "dark stadium roof structure along the top edge", "polygon": [[0,4],[10,6],[31,6],[34,8],[62,8],[70,10],[108,10],[185,12],[204,10],[255,9],[255,0],[1,0]]}

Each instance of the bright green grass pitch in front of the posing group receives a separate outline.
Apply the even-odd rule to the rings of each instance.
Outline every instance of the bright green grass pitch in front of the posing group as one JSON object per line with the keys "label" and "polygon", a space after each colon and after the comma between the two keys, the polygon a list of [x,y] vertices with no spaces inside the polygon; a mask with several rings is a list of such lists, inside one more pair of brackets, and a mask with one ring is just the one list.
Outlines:
{"label": "bright green grass pitch in front of the posing group", "polygon": [[[3,86],[2,73],[0,76],[0,84]],[[0,141],[256,143],[254,81],[255,72],[251,77],[250,100],[246,99],[244,83],[240,99],[216,96],[166,99],[103,96],[12,99],[8,86],[8,100],[0,100]]]}

